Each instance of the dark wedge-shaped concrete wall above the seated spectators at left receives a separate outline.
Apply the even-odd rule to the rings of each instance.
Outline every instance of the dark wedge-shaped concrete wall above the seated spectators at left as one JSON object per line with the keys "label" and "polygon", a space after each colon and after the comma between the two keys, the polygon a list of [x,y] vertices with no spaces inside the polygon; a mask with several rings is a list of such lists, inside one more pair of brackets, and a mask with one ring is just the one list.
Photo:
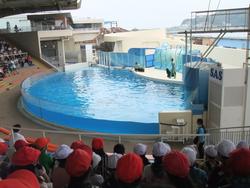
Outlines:
{"label": "dark wedge-shaped concrete wall above the seated spectators at left", "polygon": [[37,32],[6,33],[2,34],[2,36],[23,51],[40,58],[41,50]]}

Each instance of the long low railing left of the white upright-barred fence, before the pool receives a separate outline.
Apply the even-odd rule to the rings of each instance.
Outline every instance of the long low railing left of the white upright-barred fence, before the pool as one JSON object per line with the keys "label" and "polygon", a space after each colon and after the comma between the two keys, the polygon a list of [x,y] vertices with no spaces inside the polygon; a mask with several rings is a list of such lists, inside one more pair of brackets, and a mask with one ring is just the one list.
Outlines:
{"label": "long low railing left of the white upright-barred fence, before the pool", "polygon": [[[12,127],[3,127],[12,130]],[[190,138],[185,140],[183,144],[191,144],[193,138],[200,136],[198,134],[108,134],[108,133],[96,133],[96,132],[82,132],[82,131],[61,131],[61,130],[48,130],[48,129],[30,129],[30,128],[15,128],[22,130],[22,134],[25,137],[49,137],[55,144],[63,144],[65,142],[73,142],[80,139],[87,141],[94,137],[104,138],[106,141],[113,141],[118,143],[154,143],[158,141],[163,142],[177,142],[172,138]],[[55,139],[53,138],[60,138]],[[209,134],[202,136],[209,137]],[[64,142],[65,140],[65,142]]]}

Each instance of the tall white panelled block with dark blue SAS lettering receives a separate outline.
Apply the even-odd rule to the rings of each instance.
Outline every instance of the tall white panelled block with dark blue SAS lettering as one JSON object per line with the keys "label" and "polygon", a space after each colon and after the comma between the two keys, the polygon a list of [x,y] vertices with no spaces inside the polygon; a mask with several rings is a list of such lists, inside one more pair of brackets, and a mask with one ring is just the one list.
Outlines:
{"label": "tall white panelled block with dark blue SAS lettering", "polygon": [[[218,75],[221,74],[221,77]],[[213,68],[209,77],[208,125],[210,128],[243,126],[244,69]]]}

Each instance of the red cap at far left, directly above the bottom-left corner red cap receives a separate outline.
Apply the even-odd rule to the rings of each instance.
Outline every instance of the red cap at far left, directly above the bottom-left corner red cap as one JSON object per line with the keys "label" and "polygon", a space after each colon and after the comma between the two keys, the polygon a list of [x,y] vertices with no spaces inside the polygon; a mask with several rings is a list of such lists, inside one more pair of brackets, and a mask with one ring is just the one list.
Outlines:
{"label": "red cap at far left, directly above the bottom-left corner red cap", "polygon": [[12,164],[26,166],[38,161],[41,152],[29,146],[24,146],[17,150],[12,157]]}

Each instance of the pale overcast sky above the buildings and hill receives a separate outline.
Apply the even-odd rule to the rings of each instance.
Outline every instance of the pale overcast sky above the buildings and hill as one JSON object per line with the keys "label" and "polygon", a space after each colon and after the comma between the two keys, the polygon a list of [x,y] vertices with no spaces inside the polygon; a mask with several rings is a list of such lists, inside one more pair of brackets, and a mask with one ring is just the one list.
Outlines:
{"label": "pale overcast sky above the buildings and hill", "polygon": [[[210,10],[248,7],[249,0],[211,0]],[[82,0],[73,18],[103,18],[118,21],[125,29],[178,26],[192,11],[208,10],[209,0]]]}

